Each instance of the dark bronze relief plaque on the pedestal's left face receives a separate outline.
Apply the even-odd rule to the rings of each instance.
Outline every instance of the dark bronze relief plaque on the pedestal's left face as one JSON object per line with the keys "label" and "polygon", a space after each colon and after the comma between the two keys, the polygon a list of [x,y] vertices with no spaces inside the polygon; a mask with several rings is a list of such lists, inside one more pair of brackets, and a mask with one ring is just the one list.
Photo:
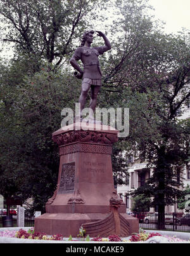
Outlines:
{"label": "dark bronze relief plaque on the pedestal's left face", "polygon": [[75,188],[75,162],[63,163],[58,194],[73,192]]}

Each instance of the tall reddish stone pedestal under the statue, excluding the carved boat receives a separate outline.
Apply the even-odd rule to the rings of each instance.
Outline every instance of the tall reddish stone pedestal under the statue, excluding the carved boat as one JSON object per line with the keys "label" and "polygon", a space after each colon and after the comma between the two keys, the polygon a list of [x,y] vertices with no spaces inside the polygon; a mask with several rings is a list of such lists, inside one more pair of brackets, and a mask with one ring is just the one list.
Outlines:
{"label": "tall reddish stone pedestal under the statue, excluding the carved boat", "polygon": [[[112,144],[118,131],[110,126],[75,123],[53,133],[60,147],[58,185],[46,203],[46,213],[35,219],[35,231],[74,237],[79,227],[105,219],[110,214],[110,198],[115,192],[111,167]],[[129,232],[137,232],[138,220],[118,210],[130,222]]]}

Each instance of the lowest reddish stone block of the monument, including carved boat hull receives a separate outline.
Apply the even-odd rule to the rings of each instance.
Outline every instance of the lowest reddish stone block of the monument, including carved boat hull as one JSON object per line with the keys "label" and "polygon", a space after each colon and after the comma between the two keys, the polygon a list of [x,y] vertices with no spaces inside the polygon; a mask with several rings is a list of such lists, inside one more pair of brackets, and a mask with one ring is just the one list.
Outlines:
{"label": "lowest reddish stone block of the monument, including carved boat hull", "polygon": [[[120,217],[122,219],[121,237],[129,236],[139,230],[139,222],[136,218],[126,213],[120,213]],[[106,222],[105,219],[107,219]],[[98,235],[107,237],[116,233],[113,213],[45,213],[35,219],[35,232],[62,234],[65,237],[69,237],[70,234],[73,238],[77,237],[81,226],[91,238]]]}

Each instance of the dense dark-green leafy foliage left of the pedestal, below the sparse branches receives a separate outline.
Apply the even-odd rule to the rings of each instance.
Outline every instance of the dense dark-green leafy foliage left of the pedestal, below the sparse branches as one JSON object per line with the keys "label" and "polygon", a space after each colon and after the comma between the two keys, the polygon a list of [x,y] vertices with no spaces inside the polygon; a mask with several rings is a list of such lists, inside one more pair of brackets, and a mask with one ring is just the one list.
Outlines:
{"label": "dense dark-green leafy foliage left of the pedestal, below the sparse branches", "polygon": [[[1,104],[1,194],[17,192],[23,199],[34,197],[35,210],[44,212],[47,198],[56,187],[59,156],[51,139],[61,126],[61,109],[74,107],[75,81],[69,74],[41,71],[21,77],[11,90],[9,78],[3,76]],[[15,81],[16,83],[16,81]],[[77,86],[77,84],[76,84]],[[78,95],[79,96],[79,95]],[[7,150],[9,149],[9,150]]]}

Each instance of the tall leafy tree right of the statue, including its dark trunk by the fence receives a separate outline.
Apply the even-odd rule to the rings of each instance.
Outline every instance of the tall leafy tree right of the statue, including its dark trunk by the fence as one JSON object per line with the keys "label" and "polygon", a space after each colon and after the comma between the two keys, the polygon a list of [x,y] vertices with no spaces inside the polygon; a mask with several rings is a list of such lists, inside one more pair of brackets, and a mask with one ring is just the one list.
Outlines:
{"label": "tall leafy tree right of the statue, including its dark trunk by the fence", "polygon": [[146,187],[137,189],[135,196],[153,198],[162,229],[165,205],[182,194],[179,172],[189,157],[189,121],[179,119],[189,98],[188,34],[167,35],[156,29],[143,14],[146,1],[118,4],[123,16],[113,31],[121,34],[112,43],[117,51],[106,66],[103,97],[114,107],[130,109],[130,135],[121,140],[121,148],[139,151],[141,161],[148,160],[154,168]]}

